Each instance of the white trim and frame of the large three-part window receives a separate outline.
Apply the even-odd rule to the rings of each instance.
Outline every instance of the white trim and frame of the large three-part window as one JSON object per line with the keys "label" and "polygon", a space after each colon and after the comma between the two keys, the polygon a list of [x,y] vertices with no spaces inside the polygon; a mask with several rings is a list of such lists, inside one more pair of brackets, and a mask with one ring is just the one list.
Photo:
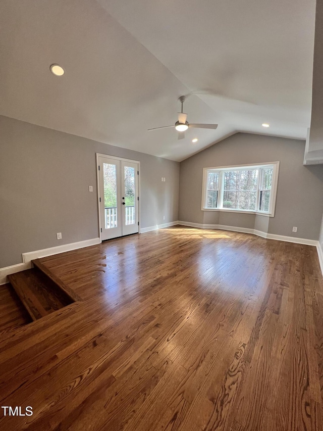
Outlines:
{"label": "white trim and frame of the large three-part window", "polygon": [[[272,193],[271,193],[271,202],[270,202],[270,208],[271,212],[264,212],[264,211],[252,211],[252,210],[235,210],[230,208],[205,208],[206,205],[206,185],[207,185],[207,172],[212,171],[234,171],[236,169],[249,169],[252,168],[266,168],[266,167],[273,167],[273,181],[272,181]],[[210,167],[210,168],[203,168],[203,181],[202,181],[202,204],[201,204],[201,210],[202,211],[220,211],[220,212],[230,212],[230,213],[243,213],[243,214],[260,214],[262,216],[266,217],[274,217],[275,216],[275,209],[276,209],[276,197],[277,197],[277,186],[278,186],[278,174],[279,174],[279,162],[268,162],[268,163],[254,163],[249,165],[233,165],[233,166],[218,166],[218,167]],[[219,175],[219,191],[218,191],[218,206],[222,207],[223,205],[223,184],[222,184],[222,175]],[[258,175],[258,181],[257,181],[257,207],[259,203],[259,181],[260,181],[260,175]]]}

